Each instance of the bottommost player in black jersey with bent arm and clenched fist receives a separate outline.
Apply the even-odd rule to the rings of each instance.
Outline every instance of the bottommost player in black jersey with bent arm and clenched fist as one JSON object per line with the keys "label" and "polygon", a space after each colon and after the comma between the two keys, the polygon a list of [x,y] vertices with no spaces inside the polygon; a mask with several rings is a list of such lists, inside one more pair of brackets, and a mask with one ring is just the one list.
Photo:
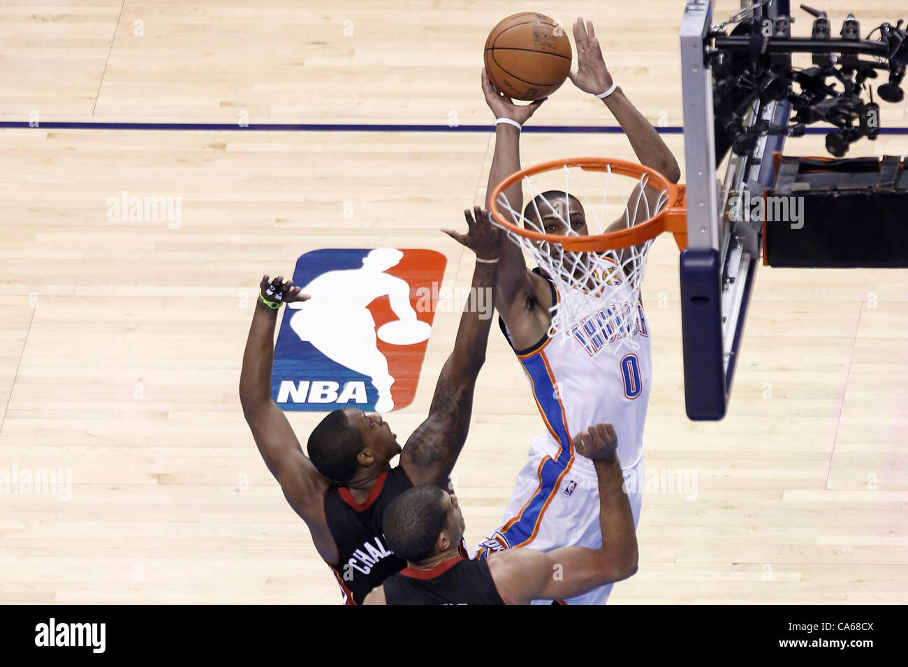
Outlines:
{"label": "bottommost player in black jersey with bent arm and clenched fist", "polygon": [[597,424],[573,442],[596,467],[602,546],[513,548],[464,560],[458,553],[465,525],[457,496],[417,486],[398,496],[384,518],[388,544],[406,558],[407,568],[376,587],[365,603],[528,604],[582,595],[637,572],[637,534],[622,488],[615,428]]}

